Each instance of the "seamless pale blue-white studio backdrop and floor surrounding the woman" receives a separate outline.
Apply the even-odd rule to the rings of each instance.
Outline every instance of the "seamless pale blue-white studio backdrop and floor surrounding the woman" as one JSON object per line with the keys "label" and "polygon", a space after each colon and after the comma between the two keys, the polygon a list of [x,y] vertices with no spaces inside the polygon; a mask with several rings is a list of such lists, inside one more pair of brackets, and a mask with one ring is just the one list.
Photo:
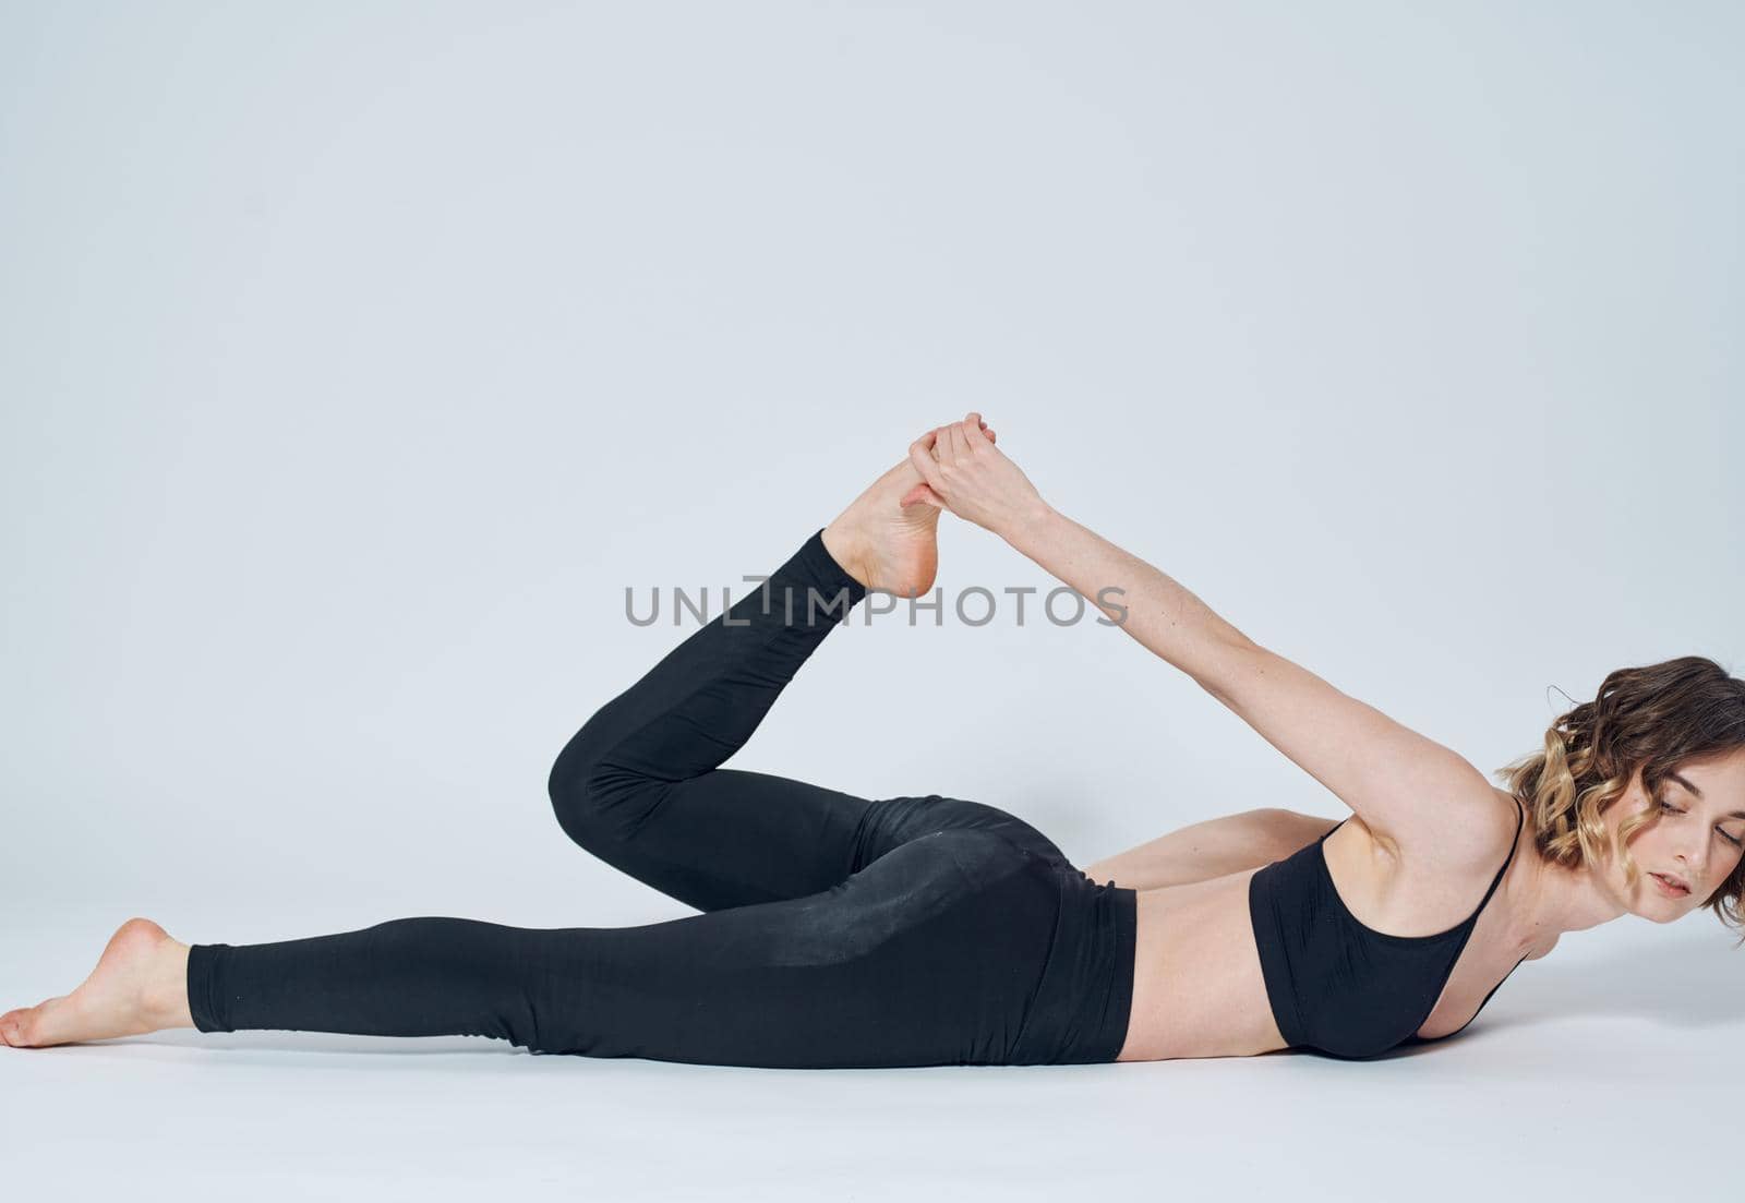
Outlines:
{"label": "seamless pale blue-white studio backdrop and floor surrounding the woman", "polygon": [[[1616,667],[1738,672],[1742,35],[1729,3],[0,3],[0,1002],[131,915],[691,913],[544,796],[695,630],[625,588],[719,613],[970,409],[1056,508],[1485,770]],[[733,766],[988,801],[1080,864],[1347,814],[1094,618],[960,622],[1057,581],[949,515],[941,548],[941,625],[832,634]],[[1625,918],[1368,1065],[9,1049],[0,1152],[19,1198],[1719,1198],[1729,950]]]}

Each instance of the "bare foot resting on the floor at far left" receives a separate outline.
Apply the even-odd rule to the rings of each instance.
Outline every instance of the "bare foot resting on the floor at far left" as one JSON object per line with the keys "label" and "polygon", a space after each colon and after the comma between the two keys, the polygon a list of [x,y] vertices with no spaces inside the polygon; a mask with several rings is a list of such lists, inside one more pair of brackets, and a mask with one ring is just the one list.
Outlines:
{"label": "bare foot resting on the floor at far left", "polygon": [[194,1027],[187,971],[187,945],[150,918],[129,918],[77,990],[0,1014],[0,1039],[12,1048],[45,1048]]}

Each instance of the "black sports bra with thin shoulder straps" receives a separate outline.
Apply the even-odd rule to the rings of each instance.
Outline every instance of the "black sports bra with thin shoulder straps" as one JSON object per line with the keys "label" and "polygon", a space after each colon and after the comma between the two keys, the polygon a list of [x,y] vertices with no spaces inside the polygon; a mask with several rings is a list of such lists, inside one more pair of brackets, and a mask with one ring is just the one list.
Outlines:
{"label": "black sports bra with thin shoulder straps", "polygon": [[[1267,1000],[1286,1044],[1358,1060],[1399,1044],[1427,1044],[1417,1030],[1436,1009],[1478,917],[1515,859],[1523,821],[1525,812],[1515,819],[1515,845],[1478,908],[1464,922],[1433,936],[1379,932],[1345,908],[1321,847],[1344,822],[1249,876],[1248,915],[1260,948]],[[1516,960],[1515,969],[1520,964]],[[1485,1002],[1502,981],[1490,988]],[[1485,1002],[1478,1004],[1478,1011],[1485,1009]],[[1466,1030],[1466,1023],[1455,1032]]]}

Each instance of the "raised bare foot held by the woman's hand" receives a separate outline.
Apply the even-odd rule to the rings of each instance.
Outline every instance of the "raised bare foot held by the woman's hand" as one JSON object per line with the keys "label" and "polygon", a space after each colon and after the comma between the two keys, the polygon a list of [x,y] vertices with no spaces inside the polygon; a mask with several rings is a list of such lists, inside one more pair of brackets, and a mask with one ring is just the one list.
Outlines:
{"label": "raised bare foot held by the woman's hand", "polygon": [[[988,423],[981,426],[982,437],[995,442]],[[920,597],[934,587],[941,510],[925,503],[902,505],[902,496],[921,480],[920,470],[904,456],[824,527],[824,548],[831,559],[867,588]]]}

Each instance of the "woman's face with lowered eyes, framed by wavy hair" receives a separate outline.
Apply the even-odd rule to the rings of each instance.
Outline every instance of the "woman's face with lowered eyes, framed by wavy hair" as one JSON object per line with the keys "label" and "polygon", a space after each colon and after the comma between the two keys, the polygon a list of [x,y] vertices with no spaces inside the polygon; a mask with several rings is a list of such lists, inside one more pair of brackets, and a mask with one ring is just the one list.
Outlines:
{"label": "woman's face with lowered eyes, framed by wavy hair", "polygon": [[[1708,761],[1686,761],[1668,775],[1656,798],[1642,787],[1642,770],[1630,789],[1607,808],[1607,835],[1639,810],[1659,817],[1635,833],[1630,856],[1642,870],[1635,885],[1614,866],[1612,883],[1625,906],[1644,918],[1670,924],[1701,906],[1738,866],[1745,845],[1745,753]],[[1679,892],[1658,876],[1682,882]]]}

